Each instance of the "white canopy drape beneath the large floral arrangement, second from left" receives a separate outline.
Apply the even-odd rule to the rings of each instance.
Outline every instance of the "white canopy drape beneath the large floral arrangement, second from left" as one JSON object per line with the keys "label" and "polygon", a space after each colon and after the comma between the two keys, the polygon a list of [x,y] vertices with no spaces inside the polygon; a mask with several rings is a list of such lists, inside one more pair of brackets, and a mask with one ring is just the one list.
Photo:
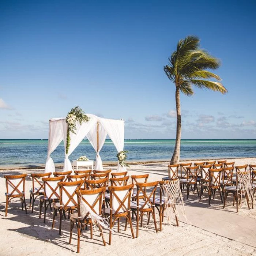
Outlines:
{"label": "white canopy drape beneath the large floral arrangement, second from left", "polygon": [[[64,124],[65,122],[65,124]],[[76,133],[70,132],[70,146],[68,149],[68,154],[66,153],[67,147],[67,123],[66,120],[62,120],[62,133],[64,137],[64,146],[65,146],[65,160],[64,160],[64,167],[63,171],[70,171],[72,169],[72,165],[70,160],[68,159],[69,155],[75,150],[75,148],[79,145],[79,143],[84,139],[93,125],[97,122],[95,118],[91,118],[89,122],[84,122],[79,124],[76,122]]]}

